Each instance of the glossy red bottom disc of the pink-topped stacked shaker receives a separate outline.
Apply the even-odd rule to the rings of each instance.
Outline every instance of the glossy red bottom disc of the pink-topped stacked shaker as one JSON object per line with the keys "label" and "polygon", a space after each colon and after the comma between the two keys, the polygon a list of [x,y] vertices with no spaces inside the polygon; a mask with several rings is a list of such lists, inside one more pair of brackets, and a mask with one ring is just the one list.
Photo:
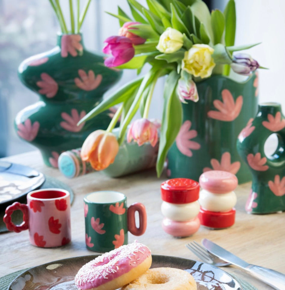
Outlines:
{"label": "glossy red bottom disc of the pink-topped stacked shaker", "polygon": [[209,228],[228,228],[234,224],[235,208],[227,212],[213,212],[200,208],[198,214],[201,225]]}

